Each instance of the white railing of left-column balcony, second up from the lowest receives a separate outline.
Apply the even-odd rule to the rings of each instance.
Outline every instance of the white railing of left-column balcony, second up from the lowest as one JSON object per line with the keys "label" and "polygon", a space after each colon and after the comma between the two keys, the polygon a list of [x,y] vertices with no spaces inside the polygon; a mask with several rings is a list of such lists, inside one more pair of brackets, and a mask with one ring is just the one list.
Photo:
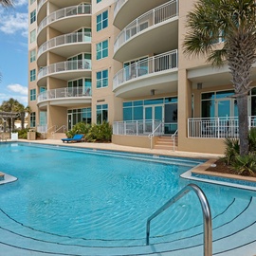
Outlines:
{"label": "white railing of left-column balcony, second up from the lowest", "polygon": [[41,67],[38,73],[38,80],[50,74],[71,71],[71,70],[82,70],[82,69],[91,69],[91,63],[89,60],[68,61],[68,62],[62,62],[57,64],[50,64],[50,65]]}

